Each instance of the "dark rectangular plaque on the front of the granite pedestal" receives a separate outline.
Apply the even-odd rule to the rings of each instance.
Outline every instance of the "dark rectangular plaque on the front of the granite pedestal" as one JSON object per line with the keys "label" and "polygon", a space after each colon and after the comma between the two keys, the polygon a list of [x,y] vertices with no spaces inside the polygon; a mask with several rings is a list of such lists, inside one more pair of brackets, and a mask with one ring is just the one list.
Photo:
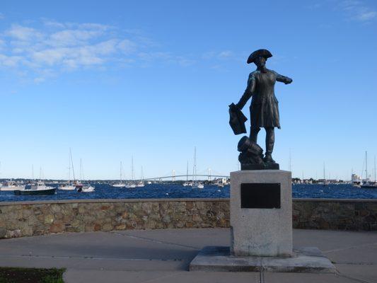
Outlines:
{"label": "dark rectangular plaque on the front of the granite pedestal", "polygon": [[280,208],[280,183],[241,184],[241,208]]}

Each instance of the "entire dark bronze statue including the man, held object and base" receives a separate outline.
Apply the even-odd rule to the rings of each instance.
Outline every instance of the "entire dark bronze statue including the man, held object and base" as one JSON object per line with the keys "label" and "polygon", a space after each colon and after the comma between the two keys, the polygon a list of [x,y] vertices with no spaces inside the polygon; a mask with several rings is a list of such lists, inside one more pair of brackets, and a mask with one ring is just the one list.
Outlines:
{"label": "entire dark bronze statue including the man, held object and base", "polygon": [[[265,63],[269,57],[272,57],[272,54],[268,50],[257,50],[250,54],[248,64],[254,63],[257,69],[250,73],[248,86],[240,101],[236,105],[230,105],[229,109],[233,119],[234,117],[239,117],[242,114],[240,110],[252,98],[250,105],[250,140],[246,139],[247,137],[243,137],[238,144],[238,150],[241,151],[239,159],[242,169],[261,169],[262,167],[265,169],[279,169],[279,164],[272,158],[275,141],[274,128],[280,129],[279,108],[274,86],[276,81],[288,84],[292,82],[292,79],[267,69]],[[239,119],[239,121],[242,120]],[[240,134],[239,131],[236,133],[234,125],[231,126],[235,134]],[[263,158],[263,166],[260,163],[255,163],[255,156],[250,152],[250,146],[257,144],[257,135],[261,127],[266,130],[266,153]],[[242,127],[238,128],[242,129]],[[245,144],[250,145],[248,149],[246,149],[247,146]]]}

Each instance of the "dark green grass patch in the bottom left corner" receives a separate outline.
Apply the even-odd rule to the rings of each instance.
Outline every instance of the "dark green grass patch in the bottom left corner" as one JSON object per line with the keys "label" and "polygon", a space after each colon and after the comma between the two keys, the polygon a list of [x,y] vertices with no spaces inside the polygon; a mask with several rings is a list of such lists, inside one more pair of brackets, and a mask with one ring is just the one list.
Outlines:
{"label": "dark green grass patch in the bottom left corner", "polygon": [[0,267],[0,283],[64,283],[65,269]]}

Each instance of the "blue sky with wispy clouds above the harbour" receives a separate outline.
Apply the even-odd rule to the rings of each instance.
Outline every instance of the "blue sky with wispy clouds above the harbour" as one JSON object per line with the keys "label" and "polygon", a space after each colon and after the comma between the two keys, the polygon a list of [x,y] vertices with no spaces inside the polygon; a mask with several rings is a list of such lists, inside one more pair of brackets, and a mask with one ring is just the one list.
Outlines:
{"label": "blue sky with wispy clouds above the harbour", "polygon": [[[294,176],[349,178],[377,154],[376,1],[1,1],[0,177],[238,168],[228,104],[267,48]],[[249,103],[248,103],[249,105]],[[244,108],[246,115],[248,105]],[[259,143],[264,147],[264,131]],[[77,172],[76,172],[77,174]]]}

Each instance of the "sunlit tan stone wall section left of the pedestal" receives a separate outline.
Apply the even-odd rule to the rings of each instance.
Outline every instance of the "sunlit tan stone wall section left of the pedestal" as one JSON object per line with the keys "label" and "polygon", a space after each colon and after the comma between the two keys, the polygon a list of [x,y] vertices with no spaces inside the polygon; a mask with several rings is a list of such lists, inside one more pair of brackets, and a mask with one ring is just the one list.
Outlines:
{"label": "sunlit tan stone wall section left of the pedestal", "polygon": [[229,226],[229,201],[66,200],[0,203],[0,238],[47,233]]}

